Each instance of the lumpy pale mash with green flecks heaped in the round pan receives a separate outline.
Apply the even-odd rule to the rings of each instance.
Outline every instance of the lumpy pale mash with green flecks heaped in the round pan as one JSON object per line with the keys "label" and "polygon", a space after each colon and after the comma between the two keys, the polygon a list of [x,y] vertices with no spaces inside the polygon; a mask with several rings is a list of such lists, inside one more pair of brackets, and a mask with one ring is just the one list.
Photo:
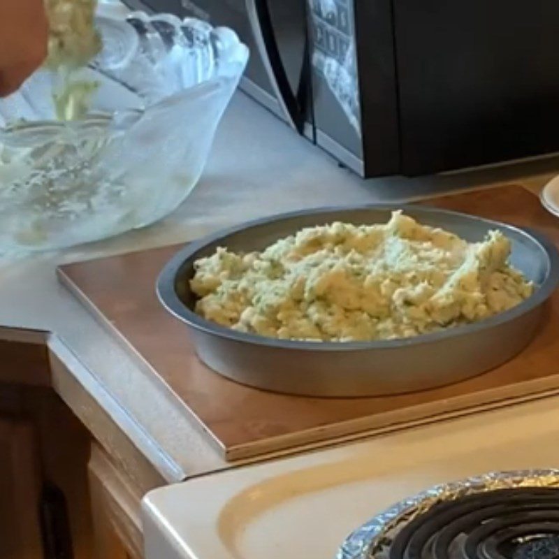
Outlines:
{"label": "lumpy pale mash with green flecks heaped in the round pan", "polygon": [[468,243],[393,212],[373,226],[305,228],[263,252],[225,248],[196,261],[196,312],[234,330],[289,340],[411,337],[479,321],[534,289],[490,231]]}

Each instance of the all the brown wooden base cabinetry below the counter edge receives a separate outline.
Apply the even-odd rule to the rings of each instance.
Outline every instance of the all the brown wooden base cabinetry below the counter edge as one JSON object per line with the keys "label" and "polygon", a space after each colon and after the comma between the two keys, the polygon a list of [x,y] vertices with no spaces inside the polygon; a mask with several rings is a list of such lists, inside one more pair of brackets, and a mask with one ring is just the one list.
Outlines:
{"label": "all the brown wooden base cabinetry below the counter edge", "polygon": [[142,559],[141,498],[52,390],[0,384],[1,559]]}

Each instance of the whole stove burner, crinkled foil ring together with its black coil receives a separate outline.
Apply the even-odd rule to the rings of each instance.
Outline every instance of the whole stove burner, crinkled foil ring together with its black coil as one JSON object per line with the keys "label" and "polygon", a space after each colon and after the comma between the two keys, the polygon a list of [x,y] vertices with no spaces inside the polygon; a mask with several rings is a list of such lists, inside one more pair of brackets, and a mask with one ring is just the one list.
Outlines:
{"label": "whole stove burner, crinkled foil ring together with its black coil", "polygon": [[355,530],[336,556],[440,558],[558,559],[559,470],[493,472],[435,486]]}

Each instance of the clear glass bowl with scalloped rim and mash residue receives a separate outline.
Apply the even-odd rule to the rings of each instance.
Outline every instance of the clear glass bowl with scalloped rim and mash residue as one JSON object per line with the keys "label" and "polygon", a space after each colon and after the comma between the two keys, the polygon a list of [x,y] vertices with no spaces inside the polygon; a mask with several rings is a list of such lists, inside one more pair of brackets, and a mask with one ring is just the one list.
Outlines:
{"label": "clear glass bowl with scalloped rim and mash residue", "polygon": [[161,219],[200,177],[248,50],[231,29],[173,15],[97,18],[97,84],[61,122],[42,68],[0,99],[0,253],[66,247]]}

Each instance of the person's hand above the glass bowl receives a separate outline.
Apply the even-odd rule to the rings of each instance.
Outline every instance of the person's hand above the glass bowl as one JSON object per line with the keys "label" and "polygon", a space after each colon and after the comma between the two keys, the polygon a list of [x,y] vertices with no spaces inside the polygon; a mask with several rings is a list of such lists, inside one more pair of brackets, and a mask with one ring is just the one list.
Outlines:
{"label": "person's hand above the glass bowl", "polygon": [[0,0],[0,97],[43,64],[48,49],[44,0]]}

